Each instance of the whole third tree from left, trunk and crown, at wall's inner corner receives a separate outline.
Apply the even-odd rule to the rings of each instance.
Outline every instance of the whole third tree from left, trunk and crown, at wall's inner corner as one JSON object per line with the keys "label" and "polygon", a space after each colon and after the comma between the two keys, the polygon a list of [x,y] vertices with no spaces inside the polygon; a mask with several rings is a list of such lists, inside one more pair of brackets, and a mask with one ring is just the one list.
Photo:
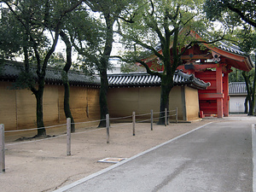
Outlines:
{"label": "whole third tree from left, trunk and crown, at wall's inner corner", "polygon": [[[108,75],[107,70],[110,67],[109,57],[113,48],[113,26],[116,20],[125,6],[128,5],[127,0],[85,0],[84,3],[90,8],[92,12],[100,14],[99,19],[94,19],[97,21],[97,25],[103,21],[104,28],[90,28],[89,31],[95,30],[94,34],[96,35],[97,41],[92,39],[81,39],[82,35],[79,35],[81,40],[87,40],[87,43],[90,42],[90,47],[88,44],[77,44],[76,49],[79,51],[79,54],[84,55],[84,57],[89,60],[90,63],[93,63],[96,67],[96,70],[99,72],[101,77],[101,88],[100,88],[100,109],[101,109],[101,122],[99,127],[106,126],[106,114],[108,114]],[[96,16],[97,17],[97,16]],[[100,32],[102,31],[102,32]],[[99,33],[97,33],[99,32]],[[94,37],[95,38],[95,37]],[[89,40],[89,41],[88,41]],[[81,41],[80,41],[81,42]],[[96,45],[101,44],[100,47]],[[83,46],[84,45],[84,46]],[[86,48],[87,47],[87,48]],[[96,49],[95,49],[96,48]],[[101,49],[102,48],[102,49]]]}

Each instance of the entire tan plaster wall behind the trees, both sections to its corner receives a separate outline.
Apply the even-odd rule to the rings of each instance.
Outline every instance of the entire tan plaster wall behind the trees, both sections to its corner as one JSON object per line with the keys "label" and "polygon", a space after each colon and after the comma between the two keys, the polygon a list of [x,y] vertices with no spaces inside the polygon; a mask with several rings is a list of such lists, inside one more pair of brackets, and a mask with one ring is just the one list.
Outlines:
{"label": "entire tan plaster wall behind the trees, both sections to its corner", "polygon": [[[30,90],[11,90],[11,83],[0,84],[0,124],[5,130],[35,128],[36,99]],[[61,85],[45,85],[44,88],[44,125],[66,123],[63,106],[64,88]],[[75,122],[100,119],[99,89],[71,86],[70,108]],[[113,88],[108,91],[108,108],[110,117],[130,116],[160,111],[160,87]],[[170,93],[169,110],[178,111],[178,119],[198,119],[199,106],[197,90],[174,87]],[[171,112],[171,114],[175,112]],[[154,118],[159,113],[154,114]],[[137,117],[139,119],[139,117]],[[149,119],[150,116],[141,118]],[[175,117],[173,116],[172,119]]]}

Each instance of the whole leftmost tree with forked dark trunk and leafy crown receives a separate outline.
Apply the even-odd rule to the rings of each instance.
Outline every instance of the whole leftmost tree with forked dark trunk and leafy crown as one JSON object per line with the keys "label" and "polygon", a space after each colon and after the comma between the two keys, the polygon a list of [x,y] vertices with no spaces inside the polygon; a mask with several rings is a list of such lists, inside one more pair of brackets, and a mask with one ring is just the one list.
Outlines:
{"label": "whole leftmost tree with forked dark trunk and leafy crown", "polygon": [[[82,0],[78,1],[38,1],[38,0],[3,0],[8,8],[9,20],[3,20],[6,30],[19,34],[11,42],[3,46],[15,45],[16,52],[23,55],[24,71],[20,73],[19,82],[36,96],[38,135],[46,135],[43,119],[43,94],[46,67],[50,56],[55,51],[61,32],[62,20],[73,11]],[[9,22],[7,24],[7,22]],[[46,36],[50,33],[51,39]],[[3,47],[1,46],[1,48]],[[10,49],[11,51],[13,49]],[[36,77],[32,73],[32,65],[36,63]]]}

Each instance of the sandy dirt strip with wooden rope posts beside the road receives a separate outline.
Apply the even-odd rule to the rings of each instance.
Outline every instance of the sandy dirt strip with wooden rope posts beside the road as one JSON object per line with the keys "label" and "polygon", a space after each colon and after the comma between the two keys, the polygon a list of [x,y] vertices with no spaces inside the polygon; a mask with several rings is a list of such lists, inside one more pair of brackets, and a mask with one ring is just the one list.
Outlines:
{"label": "sandy dirt strip with wooden rope posts beside the road", "polygon": [[[0,190],[53,191],[113,165],[98,160],[129,158],[208,122],[154,125],[154,131],[150,131],[150,124],[139,123],[136,136],[132,136],[131,124],[113,124],[108,144],[106,129],[80,128],[72,134],[70,156],[66,155],[66,135],[29,143],[8,142],[5,143],[6,172],[0,174]],[[58,134],[61,132],[65,130],[59,130]]]}

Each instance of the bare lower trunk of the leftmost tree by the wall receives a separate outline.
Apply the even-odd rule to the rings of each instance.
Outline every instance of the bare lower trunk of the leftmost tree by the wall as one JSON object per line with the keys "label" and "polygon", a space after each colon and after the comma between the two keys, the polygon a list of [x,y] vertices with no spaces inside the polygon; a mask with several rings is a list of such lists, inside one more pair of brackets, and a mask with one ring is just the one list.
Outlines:
{"label": "bare lower trunk of the leftmost tree by the wall", "polygon": [[39,79],[38,90],[35,93],[35,96],[37,99],[37,125],[38,125],[38,135],[36,137],[46,135],[46,131],[44,128],[44,119],[43,119],[43,94],[44,94],[44,79]]}

